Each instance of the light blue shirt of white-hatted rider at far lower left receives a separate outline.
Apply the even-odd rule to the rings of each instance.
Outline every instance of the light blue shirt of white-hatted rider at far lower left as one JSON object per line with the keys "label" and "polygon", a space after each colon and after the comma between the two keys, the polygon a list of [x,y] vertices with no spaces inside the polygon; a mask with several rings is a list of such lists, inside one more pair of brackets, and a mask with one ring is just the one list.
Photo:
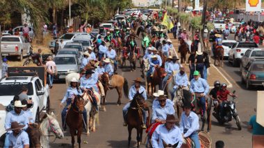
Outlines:
{"label": "light blue shirt of white-hatted rider at far lower left", "polygon": [[[19,114],[15,113],[15,111],[9,111],[6,114],[6,120],[5,120],[6,129],[9,129],[11,127],[11,122],[17,122],[19,124],[24,124],[25,127],[23,127],[23,129],[28,128],[29,121],[24,111],[21,111]],[[12,133],[12,131],[8,131],[8,133]]]}

